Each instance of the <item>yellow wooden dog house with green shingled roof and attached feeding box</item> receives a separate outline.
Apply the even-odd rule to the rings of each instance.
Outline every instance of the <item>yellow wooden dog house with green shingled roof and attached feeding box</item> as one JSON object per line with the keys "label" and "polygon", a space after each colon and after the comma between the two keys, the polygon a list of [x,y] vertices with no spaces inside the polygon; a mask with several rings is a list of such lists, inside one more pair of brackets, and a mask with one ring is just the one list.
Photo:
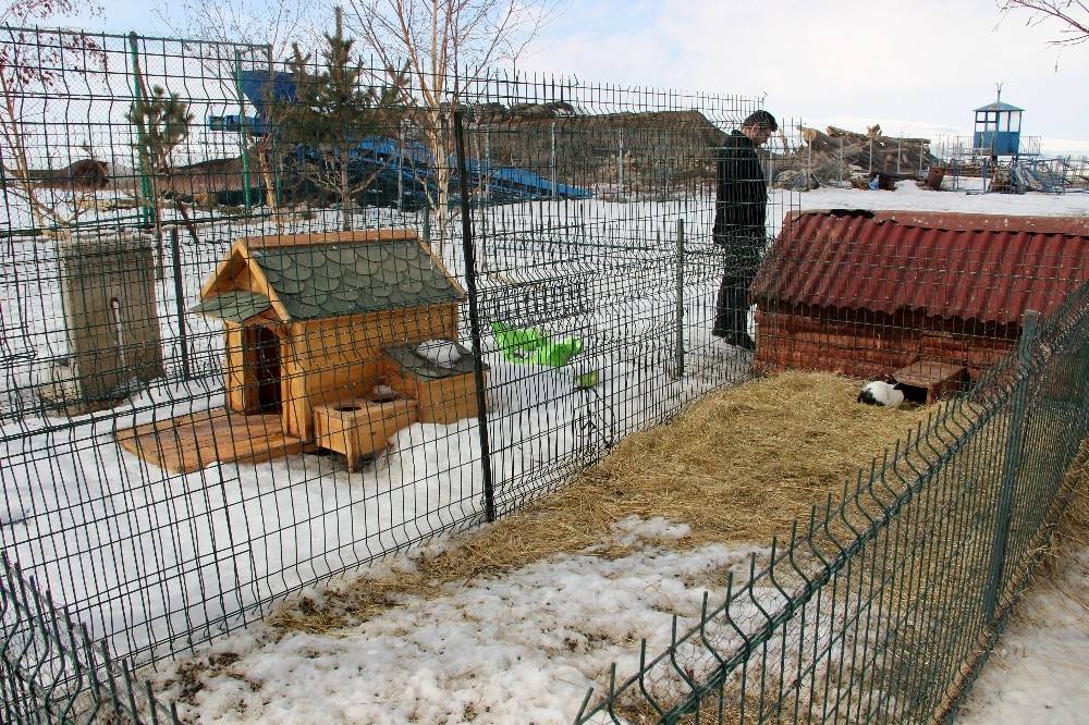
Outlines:
{"label": "yellow wooden dog house with green shingled roof and attached feeding box", "polygon": [[[354,467],[416,420],[477,415],[475,361],[453,342],[464,297],[411,230],[296,234],[235,242],[193,311],[224,327],[227,415],[274,417]],[[452,357],[427,360],[429,341]]]}

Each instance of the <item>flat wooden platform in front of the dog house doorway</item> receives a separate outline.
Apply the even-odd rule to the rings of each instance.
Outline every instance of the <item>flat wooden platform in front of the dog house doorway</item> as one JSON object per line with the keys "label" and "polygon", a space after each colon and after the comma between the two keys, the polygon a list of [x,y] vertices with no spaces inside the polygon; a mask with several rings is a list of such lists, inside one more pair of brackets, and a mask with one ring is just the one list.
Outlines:
{"label": "flat wooden platform in front of the dog house doorway", "polygon": [[303,452],[285,435],[279,413],[242,415],[201,410],[117,432],[125,451],[171,474],[191,474],[213,463],[259,463]]}

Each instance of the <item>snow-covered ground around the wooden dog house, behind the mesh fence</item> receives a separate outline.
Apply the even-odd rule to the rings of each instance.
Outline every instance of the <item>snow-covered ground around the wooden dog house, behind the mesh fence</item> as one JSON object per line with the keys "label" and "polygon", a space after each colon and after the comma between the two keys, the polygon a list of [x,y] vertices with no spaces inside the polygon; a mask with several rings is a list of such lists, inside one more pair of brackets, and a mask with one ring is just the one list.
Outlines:
{"label": "snow-covered ground around the wooden dog house, behind the mesh fence", "polygon": [[[512,323],[575,334],[585,343],[577,368],[556,370],[513,365],[486,337],[501,511],[559,483],[619,435],[744,374],[734,365],[736,351],[720,349],[707,333],[717,281],[706,270],[687,280],[686,374],[676,379],[670,371],[675,324],[662,310],[674,310],[674,251],[661,238],[662,224],[684,214],[696,224],[700,213],[706,209],[690,200],[534,202],[497,208],[480,221],[489,230],[481,235],[484,261],[502,272],[499,281],[485,277],[482,305],[528,318]],[[418,224],[384,214],[387,228]],[[541,231],[552,229],[566,231]],[[196,302],[230,239],[257,231],[229,222],[205,229],[207,248],[197,249],[185,269],[183,309]],[[600,254],[587,257],[594,245]],[[34,410],[37,369],[64,354],[53,258],[50,245],[36,239],[13,242],[4,251],[19,260],[23,277],[0,287],[4,352],[17,360],[4,371],[0,401],[28,398]],[[448,245],[455,271],[457,254]],[[548,284],[511,300],[505,285],[512,280]],[[555,299],[539,298],[556,284],[565,286]],[[158,305],[170,368],[176,366],[178,305],[169,275],[158,285]],[[13,404],[0,427],[5,551],[58,603],[74,606],[95,636],[110,638],[114,652],[143,659],[164,642],[204,639],[256,618],[258,603],[479,523],[475,420],[409,426],[397,433],[392,454],[354,474],[331,458],[298,455],[172,476],[120,448],[118,429],[222,406],[221,333],[194,316],[185,319],[199,343],[195,360],[210,372],[188,383],[152,384],[109,411],[72,420],[14,415]],[[599,374],[594,391],[576,390],[584,370]]]}

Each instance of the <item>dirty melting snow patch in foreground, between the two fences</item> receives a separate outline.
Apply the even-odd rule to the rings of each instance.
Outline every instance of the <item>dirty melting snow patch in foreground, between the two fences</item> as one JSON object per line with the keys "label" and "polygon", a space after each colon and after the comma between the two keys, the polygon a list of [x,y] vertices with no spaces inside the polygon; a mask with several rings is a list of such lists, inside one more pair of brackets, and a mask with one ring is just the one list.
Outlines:
{"label": "dirty melting snow patch in foreground, between the two fences", "polygon": [[[617,528],[633,544],[680,533],[662,519]],[[684,553],[646,546],[615,560],[552,556],[450,585],[430,600],[407,597],[328,634],[278,639],[254,628],[200,654],[237,659],[209,671],[181,714],[197,723],[570,723],[610,663],[629,672],[641,638],[649,652],[661,650],[673,614],[692,626],[705,591],[723,597],[721,587],[686,579],[723,581],[715,573],[749,553],[714,544]],[[181,693],[176,667],[156,679],[175,680],[168,692]]]}

